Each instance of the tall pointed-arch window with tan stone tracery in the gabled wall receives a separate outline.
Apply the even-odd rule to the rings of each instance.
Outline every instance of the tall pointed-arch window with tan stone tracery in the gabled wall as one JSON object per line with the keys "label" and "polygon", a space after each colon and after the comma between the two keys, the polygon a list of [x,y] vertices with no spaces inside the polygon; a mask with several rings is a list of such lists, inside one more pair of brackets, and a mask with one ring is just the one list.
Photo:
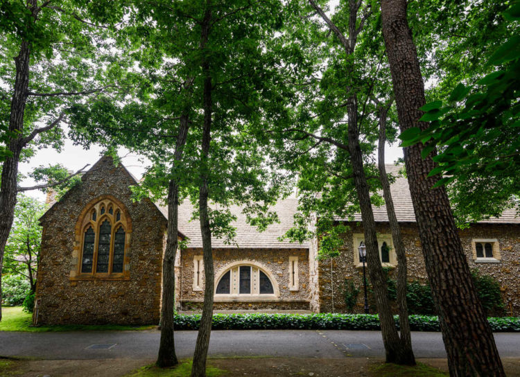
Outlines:
{"label": "tall pointed-arch window with tan stone tracery in the gabled wall", "polygon": [[71,278],[128,277],[131,226],[128,210],[116,198],[104,195],[87,204],[76,226],[78,267]]}

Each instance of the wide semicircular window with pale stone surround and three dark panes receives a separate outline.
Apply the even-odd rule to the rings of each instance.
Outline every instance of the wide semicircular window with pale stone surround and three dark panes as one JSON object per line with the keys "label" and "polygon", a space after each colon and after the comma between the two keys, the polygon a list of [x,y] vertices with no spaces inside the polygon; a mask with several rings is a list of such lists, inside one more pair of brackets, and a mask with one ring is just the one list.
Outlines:
{"label": "wide semicircular window with pale stone surround and three dark panes", "polygon": [[272,297],[279,296],[276,280],[258,263],[240,261],[227,265],[216,279],[218,297]]}

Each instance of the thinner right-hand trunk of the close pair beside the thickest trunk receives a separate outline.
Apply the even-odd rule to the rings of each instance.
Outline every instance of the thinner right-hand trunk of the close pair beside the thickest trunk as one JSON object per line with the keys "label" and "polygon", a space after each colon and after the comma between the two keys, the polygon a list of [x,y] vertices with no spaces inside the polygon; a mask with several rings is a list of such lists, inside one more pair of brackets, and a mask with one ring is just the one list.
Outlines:
{"label": "thinner right-hand trunk of the close pair beside the thickest trunk", "polygon": [[403,358],[401,362],[407,365],[415,365],[415,357],[412,349],[412,336],[410,333],[410,320],[408,319],[408,304],[406,304],[406,275],[408,274],[406,266],[406,252],[404,250],[403,238],[401,237],[401,229],[397,216],[395,215],[394,201],[392,193],[390,193],[390,182],[385,169],[385,142],[386,142],[386,116],[388,107],[379,109],[379,154],[378,166],[379,176],[381,177],[381,186],[383,186],[383,197],[385,198],[386,213],[388,213],[388,222],[390,223],[390,231],[392,231],[392,240],[394,241],[395,254],[397,255],[397,306],[399,308],[399,327],[401,328],[401,351]]}

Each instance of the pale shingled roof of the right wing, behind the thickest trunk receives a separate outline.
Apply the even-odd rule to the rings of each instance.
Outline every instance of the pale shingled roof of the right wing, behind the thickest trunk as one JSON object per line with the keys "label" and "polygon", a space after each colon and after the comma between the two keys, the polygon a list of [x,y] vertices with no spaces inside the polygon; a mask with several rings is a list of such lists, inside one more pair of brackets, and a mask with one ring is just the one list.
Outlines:
{"label": "pale shingled roof of the right wing, behind the thickest trunk", "polygon": [[[395,182],[390,185],[390,192],[392,193],[392,200],[394,201],[395,214],[399,222],[416,222],[415,212],[413,210],[412,197],[410,195],[410,188],[408,186],[408,179],[399,177],[399,170],[401,166],[394,164],[386,164],[386,173],[392,173],[395,177]],[[382,193],[381,193],[382,195]],[[388,222],[388,214],[386,213],[386,206],[381,207],[372,206],[374,211],[374,219],[376,222]],[[348,221],[347,218],[337,218],[338,221]],[[354,215],[354,221],[361,221],[361,213]],[[499,218],[489,218],[488,220],[481,220],[478,224],[520,224],[520,218],[516,217],[516,210],[506,209]]]}

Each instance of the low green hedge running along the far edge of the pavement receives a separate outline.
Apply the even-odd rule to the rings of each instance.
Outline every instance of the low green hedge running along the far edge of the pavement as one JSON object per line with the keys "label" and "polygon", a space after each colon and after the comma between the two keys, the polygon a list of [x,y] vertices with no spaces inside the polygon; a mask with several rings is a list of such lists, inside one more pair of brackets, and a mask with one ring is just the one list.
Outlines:
{"label": "low green hedge running along the far edge of the pavement", "polygon": [[[399,317],[395,319],[399,324]],[[494,332],[520,332],[520,317],[488,318]],[[196,330],[200,315],[175,315],[176,330]],[[433,315],[410,315],[412,331],[440,331]],[[378,315],[370,314],[215,314],[214,330],[379,330]]]}

